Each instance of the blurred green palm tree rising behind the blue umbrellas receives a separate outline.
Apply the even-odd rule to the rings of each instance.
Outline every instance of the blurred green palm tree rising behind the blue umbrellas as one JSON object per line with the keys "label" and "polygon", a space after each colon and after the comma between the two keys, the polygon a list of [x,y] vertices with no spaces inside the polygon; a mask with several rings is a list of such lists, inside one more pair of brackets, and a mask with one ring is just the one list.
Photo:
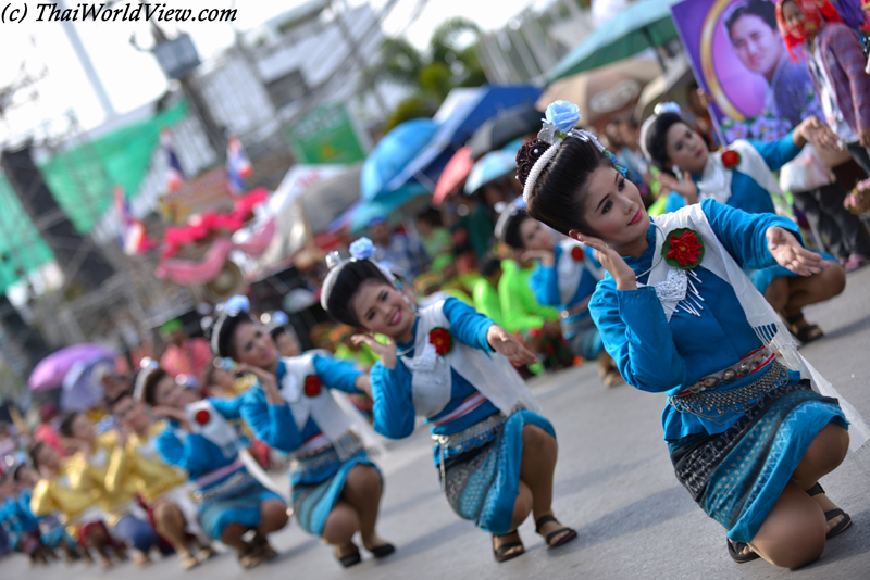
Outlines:
{"label": "blurred green palm tree rising behind the blue umbrellas", "polygon": [[378,60],[363,74],[363,90],[386,80],[413,91],[387,116],[385,133],[405,121],[434,115],[456,87],[478,87],[486,83],[476,53],[481,34],[474,22],[455,17],[435,28],[425,52],[403,38],[384,41]]}

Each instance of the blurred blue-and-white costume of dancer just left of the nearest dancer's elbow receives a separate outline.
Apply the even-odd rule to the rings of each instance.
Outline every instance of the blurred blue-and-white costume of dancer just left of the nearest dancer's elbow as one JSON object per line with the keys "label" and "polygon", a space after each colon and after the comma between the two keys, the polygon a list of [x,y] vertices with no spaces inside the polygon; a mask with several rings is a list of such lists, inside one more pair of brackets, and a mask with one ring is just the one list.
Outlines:
{"label": "blurred blue-and-white costume of dancer just left of the nearest dancer's elbow", "polygon": [[562,336],[574,354],[594,361],[604,350],[589,316],[589,299],[604,268],[591,249],[566,239],[554,248],[556,264],[537,264],[529,285],[540,304],[561,310]]}

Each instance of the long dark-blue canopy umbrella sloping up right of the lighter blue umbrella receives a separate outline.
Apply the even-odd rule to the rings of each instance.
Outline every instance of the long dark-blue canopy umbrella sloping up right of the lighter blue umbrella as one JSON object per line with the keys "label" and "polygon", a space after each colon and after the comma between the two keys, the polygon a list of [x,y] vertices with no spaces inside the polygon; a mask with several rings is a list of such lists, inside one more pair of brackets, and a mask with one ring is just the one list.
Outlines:
{"label": "long dark-blue canopy umbrella sloping up right of the lighter blue umbrella", "polygon": [[398,189],[415,180],[434,190],[447,162],[481,125],[501,111],[522,104],[534,106],[540,92],[540,88],[531,85],[481,87],[450,113],[430,143],[388,182],[387,189]]}

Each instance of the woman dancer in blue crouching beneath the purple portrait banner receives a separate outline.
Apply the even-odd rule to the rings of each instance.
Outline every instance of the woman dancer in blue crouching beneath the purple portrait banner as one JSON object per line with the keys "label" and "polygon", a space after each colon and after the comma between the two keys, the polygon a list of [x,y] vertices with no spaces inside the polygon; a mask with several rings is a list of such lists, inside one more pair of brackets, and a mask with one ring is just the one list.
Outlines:
{"label": "woman dancer in blue crouching beneath the purple portrait banner", "polygon": [[[808,141],[817,147],[837,148],[836,136],[818,118],[809,117],[779,141],[737,140],[726,153],[710,153],[704,139],[683,121],[679,106],[673,103],[659,109],[641,131],[644,151],[661,171],[662,186],[679,192],[686,204],[714,199],[754,214],[775,213],[771,193],[779,193],[780,187],[772,172],[797,156]],[[725,166],[733,161],[736,165],[732,167],[732,163],[728,163]],[[683,181],[675,177],[678,168],[686,172]],[[804,307],[840,294],[846,286],[845,269],[833,256],[824,257],[833,263],[831,267],[811,276],[798,276],[775,264],[751,273],[755,287],[782,314],[801,342],[824,336],[817,325],[804,318]]]}

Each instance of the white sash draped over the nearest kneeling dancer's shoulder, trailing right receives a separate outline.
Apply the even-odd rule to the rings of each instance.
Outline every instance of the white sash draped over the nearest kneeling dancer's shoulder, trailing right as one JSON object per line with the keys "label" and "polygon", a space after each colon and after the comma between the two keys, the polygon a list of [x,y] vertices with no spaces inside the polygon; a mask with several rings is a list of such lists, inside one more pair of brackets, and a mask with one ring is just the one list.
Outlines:
{"label": "white sash draped over the nearest kneeling dancer's shoulder, trailing right", "polygon": [[[843,409],[846,419],[852,424],[849,428],[849,449],[857,452],[870,439],[870,427],[867,426],[852,403],[846,401],[834,389],[833,384],[825,380],[797,351],[792,333],[785,328],[780,316],[756,289],[746,273],[728,253],[722,242],[719,241],[700,204],[682,207],[676,212],[656,217],[655,224],[658,228],[656,231],[655,253],[652,254],[654,261],[661,254],[664,237],[670,231],[678,228],[692,228],[704,240],[704,260],[698,267],[712,272],[734,288],[734,293],[737,295],[737,300],[753,330],[755,330],[762,343],[772,348],[783,357],[788,368],[798,370],[804,378],[810,379],[813,388],[820,394],[840,400],[840,407]],[[648,279],[648,285],[656,287],[656,294],[659,295],[661,306],[669,321],[681,299],[674,295],[663,298],[659,294],[659,288],[669,286],[669,274],[675,269],[678,268],[671,267],[664,260],[661,260],[649,273]]]}

